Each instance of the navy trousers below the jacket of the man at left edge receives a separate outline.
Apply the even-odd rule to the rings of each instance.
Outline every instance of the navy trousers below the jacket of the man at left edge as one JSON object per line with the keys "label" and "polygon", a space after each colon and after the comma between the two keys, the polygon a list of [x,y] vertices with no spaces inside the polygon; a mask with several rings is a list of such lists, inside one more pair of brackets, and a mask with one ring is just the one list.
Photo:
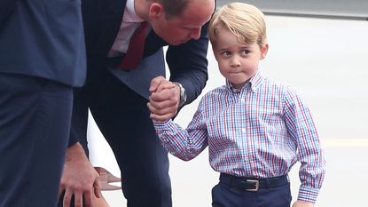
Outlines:
{"label": "navy trousers below the jacket of the man at left edge", "polygon": [[0,206],[56,206],[72,88],[0,74]]}

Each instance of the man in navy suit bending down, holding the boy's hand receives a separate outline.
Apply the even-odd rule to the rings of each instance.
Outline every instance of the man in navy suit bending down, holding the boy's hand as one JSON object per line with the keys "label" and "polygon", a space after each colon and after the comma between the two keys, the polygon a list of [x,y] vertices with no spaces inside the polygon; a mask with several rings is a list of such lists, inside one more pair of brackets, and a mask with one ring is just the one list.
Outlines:
{"label": "man in navy suit bending down, holding the boy's hand", "polygon": [[[177,84],[150,98],[155,114],[174,116],[179,106],[200,95],[207,81],[205,24],[214,10],[214,0],[82,1],[88,75],[75,97],[71,139],[85,142],[90,107],[120,166],[128,206],[172,205],[168,154],[156,137],[147,99],[149,92],[168,82],[163,77],[161,56],[165,45],[169,45],[170,81]],[[145,39],[144,60],[127,70],[121,67],[122,56],[142,21],[152,28]],[[81,151],[79,144],[68,149],[60,184],[60,190],[66,189],[64,206],[69,205],[72,195],[75,205],[81,206],[86,194],[90,197],[92,192],[94,179],[84,173],[91,174],[89,165],[82,168],[76,164],[88,162]]]}

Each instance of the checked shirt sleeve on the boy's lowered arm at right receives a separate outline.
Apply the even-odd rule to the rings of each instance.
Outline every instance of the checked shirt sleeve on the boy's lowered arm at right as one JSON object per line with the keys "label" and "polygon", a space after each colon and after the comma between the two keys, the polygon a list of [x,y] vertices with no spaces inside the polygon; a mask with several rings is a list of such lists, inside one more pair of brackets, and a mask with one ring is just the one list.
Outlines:
{"label": "checked shirt sleeve on the boy's lowered arm at right", "polygon": [[309,108],[301,98],[288,88],[285,100],[285,120],[289,134],[298,148],[301,162],[298,200],[316,203],[325,178],[325,158]]}

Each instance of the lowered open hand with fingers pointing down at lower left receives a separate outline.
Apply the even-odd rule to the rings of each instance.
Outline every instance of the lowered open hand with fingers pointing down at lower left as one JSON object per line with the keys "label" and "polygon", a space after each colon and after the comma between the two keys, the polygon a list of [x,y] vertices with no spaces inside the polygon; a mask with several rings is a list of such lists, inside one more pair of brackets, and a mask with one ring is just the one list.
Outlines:
{"label": "lowered open hand with fingers pointing down at lower left", "polygon": [[72,195],[75,207],[92,207],[93,196],[96,195],[98,198],[101,196],[98,172],[90,164],[79,143],[67,148],[59,195],[64,190],[64,207],[70,206]]}

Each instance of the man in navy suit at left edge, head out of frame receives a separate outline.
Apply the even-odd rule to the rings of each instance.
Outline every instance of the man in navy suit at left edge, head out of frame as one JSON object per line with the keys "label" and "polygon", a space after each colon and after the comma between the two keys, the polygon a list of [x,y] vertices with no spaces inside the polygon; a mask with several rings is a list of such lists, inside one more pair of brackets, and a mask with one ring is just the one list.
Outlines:
{"label": "man in navy suit at left edge, head out of frame", "polygon": [[86,72],[81,3],[0,5],[0,206],[56,206]]}

